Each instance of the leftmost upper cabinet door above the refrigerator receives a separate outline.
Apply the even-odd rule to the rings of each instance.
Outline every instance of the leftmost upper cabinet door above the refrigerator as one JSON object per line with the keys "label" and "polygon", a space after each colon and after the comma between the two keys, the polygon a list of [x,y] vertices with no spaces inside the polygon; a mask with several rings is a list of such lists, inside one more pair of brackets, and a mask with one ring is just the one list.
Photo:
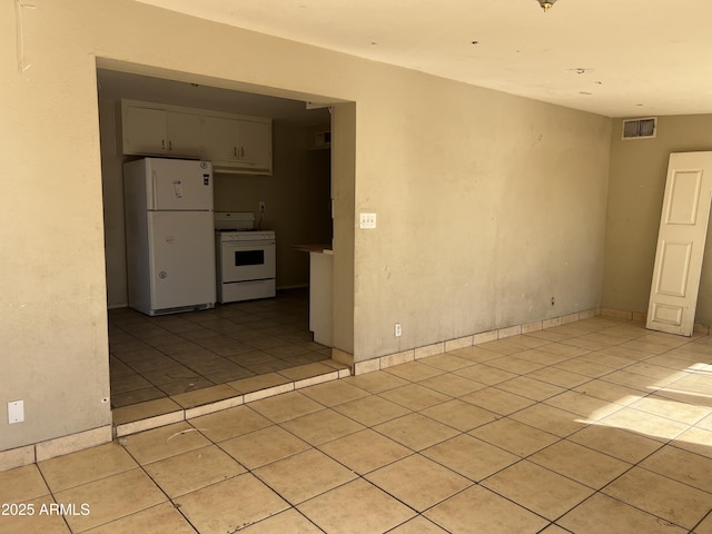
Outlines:
{"label": "leftmost upper cabinet door above the refrigerator", "polygon": [[127,106],[123,108],[122,121],[123,154],[166,154],[166,111]]}

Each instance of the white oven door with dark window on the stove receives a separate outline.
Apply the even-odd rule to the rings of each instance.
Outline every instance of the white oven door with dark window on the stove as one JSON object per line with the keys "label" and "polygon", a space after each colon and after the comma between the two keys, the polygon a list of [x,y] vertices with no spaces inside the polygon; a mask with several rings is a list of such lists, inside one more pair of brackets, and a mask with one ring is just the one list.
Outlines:
{"label": "white oven door with dark window on the stove", "polygon": [[222,243],[220,281],[226,284],[275,278],[276,248],[274,240]]}

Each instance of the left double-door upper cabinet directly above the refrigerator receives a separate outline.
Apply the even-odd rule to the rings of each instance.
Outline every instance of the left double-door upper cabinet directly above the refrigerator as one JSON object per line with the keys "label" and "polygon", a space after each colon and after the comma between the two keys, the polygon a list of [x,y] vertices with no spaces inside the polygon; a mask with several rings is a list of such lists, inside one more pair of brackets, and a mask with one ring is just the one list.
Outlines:
{"label": "left double-door upper cabinet directly above the refrigerator", "polygon": [[123,101],[123,154],[201,158],[204,117]]}

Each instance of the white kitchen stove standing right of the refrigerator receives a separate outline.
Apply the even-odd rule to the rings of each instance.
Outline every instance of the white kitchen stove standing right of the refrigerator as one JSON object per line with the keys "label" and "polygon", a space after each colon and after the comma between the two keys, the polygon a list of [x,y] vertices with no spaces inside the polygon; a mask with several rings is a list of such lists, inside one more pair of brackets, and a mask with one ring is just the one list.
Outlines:
{"label": "white kitchen stove standing right of the refrigerator", "polygon": [[273,230],[255,228],[251,212],[215,212],[219,303],[276,295],[276,243]]}

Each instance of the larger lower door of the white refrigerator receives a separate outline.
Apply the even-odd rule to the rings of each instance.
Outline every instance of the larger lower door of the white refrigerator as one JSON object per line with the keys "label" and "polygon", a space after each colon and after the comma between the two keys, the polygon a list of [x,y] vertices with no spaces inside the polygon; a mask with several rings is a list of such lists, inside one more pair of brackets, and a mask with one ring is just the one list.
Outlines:
{"label": "larger lower door of the white refrigerator", "polygon": [[211,211],[149,211],[151,309],[215,303]]}

